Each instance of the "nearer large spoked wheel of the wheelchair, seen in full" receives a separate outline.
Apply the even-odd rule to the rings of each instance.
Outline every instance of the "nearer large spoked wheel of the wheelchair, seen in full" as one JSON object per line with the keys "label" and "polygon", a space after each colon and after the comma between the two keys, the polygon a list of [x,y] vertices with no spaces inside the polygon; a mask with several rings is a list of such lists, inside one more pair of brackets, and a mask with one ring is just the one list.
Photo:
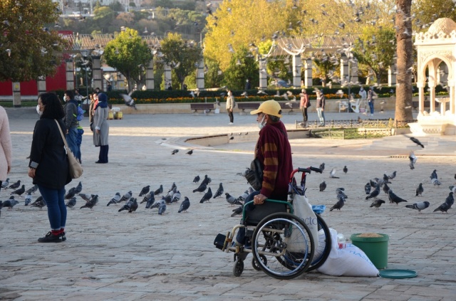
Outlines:
{"label": "nearer large spoked wheel of the wheelchair, seen in full", "polygon": [[[252,253],[259,268],[277,279],[292,279],[311,265],[314,244],[309,227],[290,213],[273,213],[257,225]],[[266,262],[261,260],[264,255]]]}

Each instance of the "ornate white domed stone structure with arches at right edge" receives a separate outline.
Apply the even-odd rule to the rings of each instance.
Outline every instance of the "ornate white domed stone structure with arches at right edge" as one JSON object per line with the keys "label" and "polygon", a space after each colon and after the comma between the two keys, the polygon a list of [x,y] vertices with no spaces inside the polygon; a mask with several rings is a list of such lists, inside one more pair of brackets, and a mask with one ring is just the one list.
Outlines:
{"label": "ornate white domed stone structure with arches at right edge", "polygon": [[[415,38],[418,51],[418,122],[410,124],[416,135],[456,134],[456,23],[449,18],[437,19],[426,33]],[[428,77],[426,77],[426,70]],[[430,91],[429,112],[425,111],[425,86]],[[449,97],[436,98],[435,87],[447,88]],[[435,110],[440,102],[440,112]],[[449,105],[447,105],[447,102]],[[448,110],[447,110],[448,107]]]}

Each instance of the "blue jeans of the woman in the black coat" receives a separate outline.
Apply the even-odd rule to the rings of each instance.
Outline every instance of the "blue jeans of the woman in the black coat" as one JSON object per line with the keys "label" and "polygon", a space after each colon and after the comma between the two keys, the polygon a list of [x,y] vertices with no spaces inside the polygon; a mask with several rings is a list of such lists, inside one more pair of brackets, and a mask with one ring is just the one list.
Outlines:
{"label": "blue jeans of the woman in the black coat", "polygon": [[65,228],[66,206],[65,206],[65,187],[61,189],[50,189],[38,185],[38,190],[48,206],[48,218],[51,223],[51,230]]}

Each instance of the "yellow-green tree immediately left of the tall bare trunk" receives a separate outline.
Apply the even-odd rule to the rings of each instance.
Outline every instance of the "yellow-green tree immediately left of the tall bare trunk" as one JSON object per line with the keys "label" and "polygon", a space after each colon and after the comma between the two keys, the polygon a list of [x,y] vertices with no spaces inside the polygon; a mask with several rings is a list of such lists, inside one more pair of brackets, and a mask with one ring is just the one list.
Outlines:
{"label": "yellow-green tree immediately left of the tall bare trunk", "polygon": [[380,84],[388,67],[393,64],[396,52],[395,31],[393,28],[366,26],[353,50],[358,62],[367,65]]}

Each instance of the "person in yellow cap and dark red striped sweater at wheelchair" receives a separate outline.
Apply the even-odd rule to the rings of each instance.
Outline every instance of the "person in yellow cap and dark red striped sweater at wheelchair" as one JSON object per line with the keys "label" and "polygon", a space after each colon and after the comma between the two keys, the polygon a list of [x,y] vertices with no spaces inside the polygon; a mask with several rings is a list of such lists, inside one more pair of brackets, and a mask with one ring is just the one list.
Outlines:
{"label": "person in yellow cap and dark red striped sweater at wheelchair", "polygon": [[[264,211],[264,216],[274,212],[282,211],[284,205],[274,206],[274,203],[264,205],[266,199],[286,201],[289,189],[289,176],[293,171],[291,160],[291,147],[286,133],[286,128],[281,122],[281,107],[275,100],[267,100],[259,106],[258,110],[250,112],[257,115],[257,122],[260,128],[259,138],[255,146],[255,158],[259,159],[263,167],[263,181],[261,189],[254,191],[247,196],[245,204],[254,201],[253,204],[245,205],[247,216],[255,216],[254,211]],[[266,210],[257,206],[264,206]],[[268,208],[266,208],[266,206]],[[269,211],[269,212],[267,212]],[[249,246],[246,237],[246,228],[239,228],[236,236],[236,245]],[[247,253],[245,254],[247,255]]]}

